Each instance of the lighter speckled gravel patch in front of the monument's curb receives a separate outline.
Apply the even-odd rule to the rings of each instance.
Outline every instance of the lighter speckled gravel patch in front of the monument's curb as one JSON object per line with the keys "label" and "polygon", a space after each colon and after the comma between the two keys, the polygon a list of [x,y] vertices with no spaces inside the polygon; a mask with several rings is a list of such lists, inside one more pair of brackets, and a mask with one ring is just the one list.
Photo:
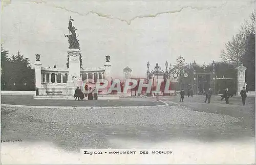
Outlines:
{"label": "lighter speckled gravel patch in front of the monument's curb", "polygon": [[[188,125],[188,126],[222,126],[239,122],[236,117],[191,111],[184,106],[126,109],[33,109],[10,108],[2,106],[2,113],[8,111],[16,122],[36,120],[46,123],[62,124],[109,124],[109,125]],[[6,114],[6,115],[8,115]],[[26,119],[18,117],[25,114]],[[25,120],[25,121],[24,121]]]}

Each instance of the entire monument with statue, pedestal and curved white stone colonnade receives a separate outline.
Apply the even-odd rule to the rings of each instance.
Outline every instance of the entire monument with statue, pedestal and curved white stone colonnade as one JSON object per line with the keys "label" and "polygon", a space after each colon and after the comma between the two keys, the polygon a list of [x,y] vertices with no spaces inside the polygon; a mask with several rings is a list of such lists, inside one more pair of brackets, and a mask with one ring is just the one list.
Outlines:
{"label": "entire monument with statue, pedestal and curved white stone colonnade", "polygon": [[[76,35],[76,28],[72,26],[72,19],[69,18],[68,30],[69,34],[65,34],[68,37],[69,48],[68,48],[68,63],[67,68],[58,68],[54,65],[53,68],[42,67],[40,62],[40,55],[36,54],[35,61],[35,85],[36,85],[36,96],[35,99],[45,99],[45,98],[62,98],[67,99],[74,96],[74,91],[77,86],[80,86],[82,91],[87,83],[90,87],[95,87],[97,83],[100,83],[100,78],[107,80],[108,86],[111,86],[111,63],[110,56],[105,56],[104,67],[98,68],[82,68],[81,67],[81,51],[79,40],[77,40],[78,35]],[[97,75],[97,82],[95,82],[95,75]],[[89,78],[90,76],[90,78]],[[92,78],[91,78],[92,76]],[[104,85],[105,88],[106,86]],[[38,90],[37,90],[38,88]],[[101,90],[102,97],[110,99],[108,95],[108,90]],[[117,98],[117,95],[113,98]],[[119,96],[118,96],[119,98]]]}

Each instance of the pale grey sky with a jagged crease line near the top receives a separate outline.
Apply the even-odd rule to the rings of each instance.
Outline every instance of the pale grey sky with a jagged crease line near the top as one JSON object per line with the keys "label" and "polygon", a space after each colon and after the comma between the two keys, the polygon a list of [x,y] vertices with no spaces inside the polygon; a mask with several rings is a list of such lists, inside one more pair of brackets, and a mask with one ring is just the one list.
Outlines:
{"label": "pale grey sky with a jagged crease line near the top", "polygon": [[254,1],[2,1],[1,42],[31,63],[66,68],[71,16],[84,68],[103,67],[110,55],[112,75],[145,77],[165,61],[198,64],[221,60],[221,50],[254,10]]}

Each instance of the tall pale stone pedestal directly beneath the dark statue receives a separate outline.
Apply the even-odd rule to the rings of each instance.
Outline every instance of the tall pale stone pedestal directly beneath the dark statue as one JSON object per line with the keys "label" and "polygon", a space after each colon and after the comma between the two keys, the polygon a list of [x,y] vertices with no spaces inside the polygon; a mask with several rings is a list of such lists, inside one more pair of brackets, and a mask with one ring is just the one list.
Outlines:
{"label": "tall pale stone pedestal directly beneath the dark statue", "polygon": [[69,75],[67,86],[77,86],[77,81],[80,79],[80,49],[69,49]]}

